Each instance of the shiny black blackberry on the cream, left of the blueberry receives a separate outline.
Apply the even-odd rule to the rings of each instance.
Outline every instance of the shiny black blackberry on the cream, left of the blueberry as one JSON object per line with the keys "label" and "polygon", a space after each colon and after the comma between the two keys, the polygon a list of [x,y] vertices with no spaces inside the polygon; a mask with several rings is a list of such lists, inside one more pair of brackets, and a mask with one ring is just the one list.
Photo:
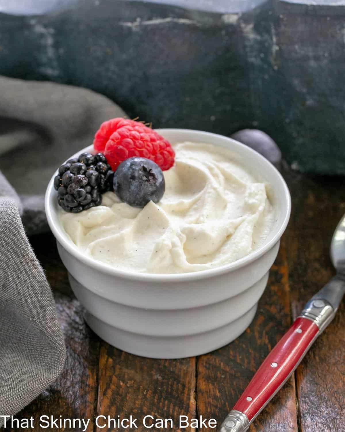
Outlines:
{"label": "shiny black blackberry on the cream, left of the blueberry", "polygon": [[57,202],[66,212],[80,213],[102,203],[102,194],[113,190],[113,176],[103,153],[85,152],[69,159],[54,178]]}

